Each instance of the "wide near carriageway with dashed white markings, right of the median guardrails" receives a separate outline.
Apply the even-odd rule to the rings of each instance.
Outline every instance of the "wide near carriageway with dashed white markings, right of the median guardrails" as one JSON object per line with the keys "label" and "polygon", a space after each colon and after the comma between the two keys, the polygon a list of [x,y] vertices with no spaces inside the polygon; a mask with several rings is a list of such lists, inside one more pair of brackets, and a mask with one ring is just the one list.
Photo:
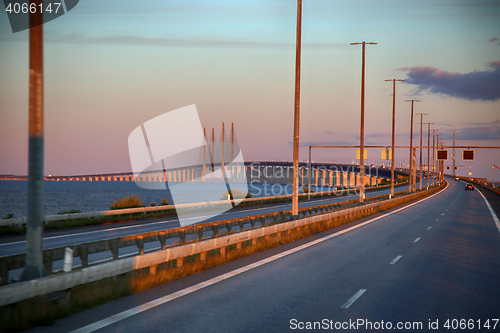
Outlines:
{"label": "wide near carriageway with dashed white markings, right of the median guardrails", "polygon": [[389,323],[393,330],[401,325],[407,327],[401,331],[448,332],[456,330],[445,325],[453,328],[460,320],[472,325],[471,332],[486,331],[486,324],[500,330],[495,322],[500,233],[478,191],[450,181],[432,198],[381,216],[350,223],[344,231],[359,227],[348,232],[337,229],[284,244],[33,331],[96,324],[99,332],[288,332],[318,322],[340,325],[339,332],[385,331],[380,327]]}

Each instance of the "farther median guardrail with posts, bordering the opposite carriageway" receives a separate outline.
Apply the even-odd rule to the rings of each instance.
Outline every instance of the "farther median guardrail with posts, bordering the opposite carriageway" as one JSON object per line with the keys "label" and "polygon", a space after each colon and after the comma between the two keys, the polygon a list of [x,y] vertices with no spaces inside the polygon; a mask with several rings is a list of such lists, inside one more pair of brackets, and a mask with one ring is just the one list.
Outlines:
{"label": "farther median guardrail with posts, bordering the opposite carriageway", "polygon": [[[395,197],[401,197],[407,193],[408,191],[397,192]],[[350,201],[342,201],[338,203],[301,208],[299,210],[299,218],[331,213],[347,208],[353,208],[370,203],[384,201],[387,199],[389,199],[389,194],[368,197],[365,199],[364,203],[360,203],[358,199],[354,199]],[[243,232],[245,230],[255,228],[262,228],[271,224],[279,224],[291,220],[292,211],[286,210],[249,217],[195,224],[187,227],[178,227],[161,231],[147,232],[137,235],[110,238],[100,241],[81,243],[73,246],[64,246],[44,250],[43,261],[45,270],[47,274],[50,275],[54,274],[53,263],[55,261],[64,259],[64,253],[67,247],[73,250],[73,258],[78,257],[81,260],[80,267],[85,268],[96,263],[101,263],[102,260],[99,260],[97,262],[89,262],[90,255],[101,252],[111,252],[112,258],[109,258],[108,260],[118,260],[120,258],[119,249],[122,248],[136,247],[136,253],[140,255],[144,254],[144,245],[147,243],[155,242],[156,244],[159,244],[159,248],[161,250],[165,250],[170,247],[198,242],[207,238],[217,238],[225,234]],[[237,229],[237,231],[235,231],[235,229]],[[5,285],[10,282],[8,281],[9,271],[21,269],[24,267],[25,256],[26,254],[22,253],[0,258],[0,285]]]}

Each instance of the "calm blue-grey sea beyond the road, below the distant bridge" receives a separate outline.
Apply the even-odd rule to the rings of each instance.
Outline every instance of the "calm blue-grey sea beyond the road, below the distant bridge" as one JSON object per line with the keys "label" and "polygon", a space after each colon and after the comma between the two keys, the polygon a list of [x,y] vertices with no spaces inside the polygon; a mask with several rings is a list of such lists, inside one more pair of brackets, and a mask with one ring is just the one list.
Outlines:
{"label": "calm blue-grey sea beyond the road, below the distant bridge", "polygon": [[[176,197],[183,202],[207,201],[207,197],[219,200],[225,191],[220,183],[184,185],[187,187],[183,191],[176,191]],[[109,210],[114,201],[131,194],[142,198],[146,206],[151,202],[158,205],[165,197],[169,203],[173,203],[169,190],[144,189],[135,182],[45,181],[43,186],[45,215],[55,215],[71,209],[79,209],[81,212]],[[248,189],[252,197],[292,193],[291,185],[249,184]],[[0,218],[10,213],[14,217],[24,217],[27,215],[27,207],[28,181],[0,180]]]}

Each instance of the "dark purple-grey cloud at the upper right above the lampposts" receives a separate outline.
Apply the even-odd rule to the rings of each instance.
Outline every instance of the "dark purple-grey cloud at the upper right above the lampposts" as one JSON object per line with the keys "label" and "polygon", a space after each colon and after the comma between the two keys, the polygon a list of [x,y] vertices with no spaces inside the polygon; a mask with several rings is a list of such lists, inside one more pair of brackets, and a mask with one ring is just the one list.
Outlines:
{"label": "dark purple-grey cloud at the upper right above the lampposts", "polygon": [[404,83],[418,86],[417,93],[429,90],[434,94],[466,100],[496,101],[500,99],[500,60],[488,63],[486,71],[460,74],[432,66],[404,67],[408,72]]}

